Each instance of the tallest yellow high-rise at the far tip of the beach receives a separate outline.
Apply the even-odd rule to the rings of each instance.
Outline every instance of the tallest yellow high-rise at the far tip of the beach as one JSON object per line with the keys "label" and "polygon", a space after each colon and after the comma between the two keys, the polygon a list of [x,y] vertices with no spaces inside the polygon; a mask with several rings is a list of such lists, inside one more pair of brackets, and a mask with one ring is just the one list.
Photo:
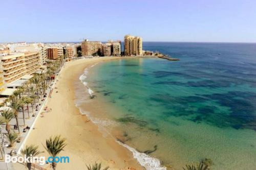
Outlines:
{"label": "tallest yellow high-rise at the far tip of the beach", "polygon": [[131,35],[124,36],[124,55],[140,56],[142,55],[142,38]]}

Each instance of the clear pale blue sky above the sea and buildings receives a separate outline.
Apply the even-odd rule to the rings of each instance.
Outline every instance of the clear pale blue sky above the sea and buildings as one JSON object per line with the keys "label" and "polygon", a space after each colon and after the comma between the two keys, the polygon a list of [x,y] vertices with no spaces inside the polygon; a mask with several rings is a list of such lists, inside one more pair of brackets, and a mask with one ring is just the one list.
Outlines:
{"label": "clear pale blue sky above the sea and buildings", "polygon": [[0,42],[256,42],[255,0],[9,0],[0,5]]}

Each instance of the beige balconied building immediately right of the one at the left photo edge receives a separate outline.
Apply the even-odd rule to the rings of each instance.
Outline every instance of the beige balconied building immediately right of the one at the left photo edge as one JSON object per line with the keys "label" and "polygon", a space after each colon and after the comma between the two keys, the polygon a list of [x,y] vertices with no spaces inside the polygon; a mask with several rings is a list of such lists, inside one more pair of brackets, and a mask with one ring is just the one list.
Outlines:
{"label": "beige balconied building immediately right of the one at the left photo edge", "polygon": [[37,71],[40,67],[39,65],[39,53],[38,52],[26,52],[25,53],[25,63],[27,74],[30,75]]}

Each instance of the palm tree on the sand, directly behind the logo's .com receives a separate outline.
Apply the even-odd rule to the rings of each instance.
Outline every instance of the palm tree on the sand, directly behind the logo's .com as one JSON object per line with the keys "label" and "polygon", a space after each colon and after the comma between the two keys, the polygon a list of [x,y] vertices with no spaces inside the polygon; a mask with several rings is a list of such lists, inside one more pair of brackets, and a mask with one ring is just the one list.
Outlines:
{"label": "palm tree on the sand, directly behind the logo's .com", "polygon": [[[61,138],[60,135],[50,137],[50,139],[46,139],[46,147],[47,152],[54,158],[66,147],[66,139]],[[55,170],[57,166],[56,162],[52,162],[52,168]]]}

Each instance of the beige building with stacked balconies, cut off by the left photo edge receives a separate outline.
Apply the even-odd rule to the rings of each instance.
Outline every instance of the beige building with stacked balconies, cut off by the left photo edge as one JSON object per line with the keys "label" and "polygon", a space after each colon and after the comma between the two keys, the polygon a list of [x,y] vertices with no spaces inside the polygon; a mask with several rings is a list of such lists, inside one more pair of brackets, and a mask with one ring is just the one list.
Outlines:
{"label": "beige building with stacked balconies, cut off by the left photo edge", "polygon": [[24,53],[9,54],[1,57],[2,70],[6,83],[13,82],[27,73]]}

